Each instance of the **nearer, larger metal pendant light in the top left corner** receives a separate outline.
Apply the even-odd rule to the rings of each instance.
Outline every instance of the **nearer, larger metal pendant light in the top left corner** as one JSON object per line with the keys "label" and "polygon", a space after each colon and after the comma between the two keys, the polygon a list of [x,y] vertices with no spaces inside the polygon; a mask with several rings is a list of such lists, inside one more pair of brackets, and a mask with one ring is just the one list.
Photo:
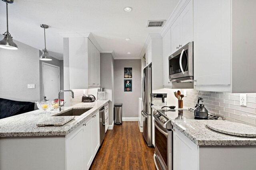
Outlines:
{"label": "nearer, larger metal pendant light in the top left corner", "polygon": [[6,2],[6,18],[7,18],[7,31],[3,34],[4,39],[0,41],[0,48],[17,50],[18,46],[12,41],[12,35],[9,33],[8,29],[8,3],[12,4],[13,0],[2,0]]}

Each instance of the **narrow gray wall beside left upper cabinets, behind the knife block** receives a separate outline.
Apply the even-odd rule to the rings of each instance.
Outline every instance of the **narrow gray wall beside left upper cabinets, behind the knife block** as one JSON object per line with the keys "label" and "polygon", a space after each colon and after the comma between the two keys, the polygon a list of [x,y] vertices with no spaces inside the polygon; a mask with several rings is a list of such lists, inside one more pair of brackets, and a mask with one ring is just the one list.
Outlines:
{"label": "narrow gray wall beside left upper cabinets, behind the knife block", "polygon": [[100,54],[100,85],[106,90],[109,102],[109,124],[114,121],[114,59],[111,53]]}

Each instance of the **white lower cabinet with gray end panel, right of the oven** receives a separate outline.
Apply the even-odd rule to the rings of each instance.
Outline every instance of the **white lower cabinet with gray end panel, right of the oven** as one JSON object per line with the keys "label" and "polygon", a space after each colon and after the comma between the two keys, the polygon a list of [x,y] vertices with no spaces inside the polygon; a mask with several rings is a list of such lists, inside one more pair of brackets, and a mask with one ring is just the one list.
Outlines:
{"label": "white lower cabinet with gray end panel, right of the oven", "polygon": [[[200,133],[200,132],[198,132]],[[173,170],[255,170],[255,146],[198,146],[174,127]]]}

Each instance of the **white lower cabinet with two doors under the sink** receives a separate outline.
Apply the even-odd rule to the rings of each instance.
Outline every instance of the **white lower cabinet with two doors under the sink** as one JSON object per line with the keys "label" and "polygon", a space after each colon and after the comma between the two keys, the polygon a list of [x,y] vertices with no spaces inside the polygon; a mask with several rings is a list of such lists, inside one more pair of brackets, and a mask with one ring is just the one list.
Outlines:
{"label": "white lower cabinet with two doors under the sink", "polygon": [[99,111],[66,135],[66,169],[88,170],[100,147]]}

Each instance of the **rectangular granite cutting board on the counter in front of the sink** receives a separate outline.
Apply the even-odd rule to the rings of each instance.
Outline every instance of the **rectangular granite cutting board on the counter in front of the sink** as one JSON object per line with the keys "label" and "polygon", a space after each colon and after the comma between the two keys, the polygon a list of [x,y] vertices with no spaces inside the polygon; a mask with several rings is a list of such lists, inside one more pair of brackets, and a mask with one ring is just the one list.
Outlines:
{"label": "rectangular granite cutting board on the counter in front of the sink", "polygon": [[65,123],[68,123],[72,119],[74,119],[74,116],[48,116],[43,117],[42,119],[38,120],[37,126],[62,126]]}

